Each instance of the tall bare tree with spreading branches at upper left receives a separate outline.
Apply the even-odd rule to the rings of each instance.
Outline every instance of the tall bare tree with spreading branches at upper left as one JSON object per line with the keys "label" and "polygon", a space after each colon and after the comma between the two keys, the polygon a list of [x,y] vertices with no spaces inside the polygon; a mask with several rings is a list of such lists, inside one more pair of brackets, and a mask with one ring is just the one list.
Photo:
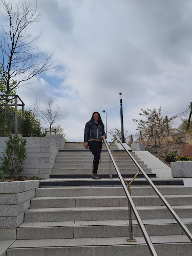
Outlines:
{"label": "tall bare tree with spreading branches at upper left", "polygon": [[[37,6],[33,8],[26,0],[17,4],[13,0],[0,0],[0,5],[3,7],[1,14],[7,19],[7,25],[0,26],[0,66],[6,82],[6,94],[9,94],[10,90],[30,84],[32,77],[56,67],[51,62],[53,52],[43,60],[34,51],[34,42],[41,33],[33,38],[28,28],[41,20]],[[19,81],[13,83],[18,76]]]}

